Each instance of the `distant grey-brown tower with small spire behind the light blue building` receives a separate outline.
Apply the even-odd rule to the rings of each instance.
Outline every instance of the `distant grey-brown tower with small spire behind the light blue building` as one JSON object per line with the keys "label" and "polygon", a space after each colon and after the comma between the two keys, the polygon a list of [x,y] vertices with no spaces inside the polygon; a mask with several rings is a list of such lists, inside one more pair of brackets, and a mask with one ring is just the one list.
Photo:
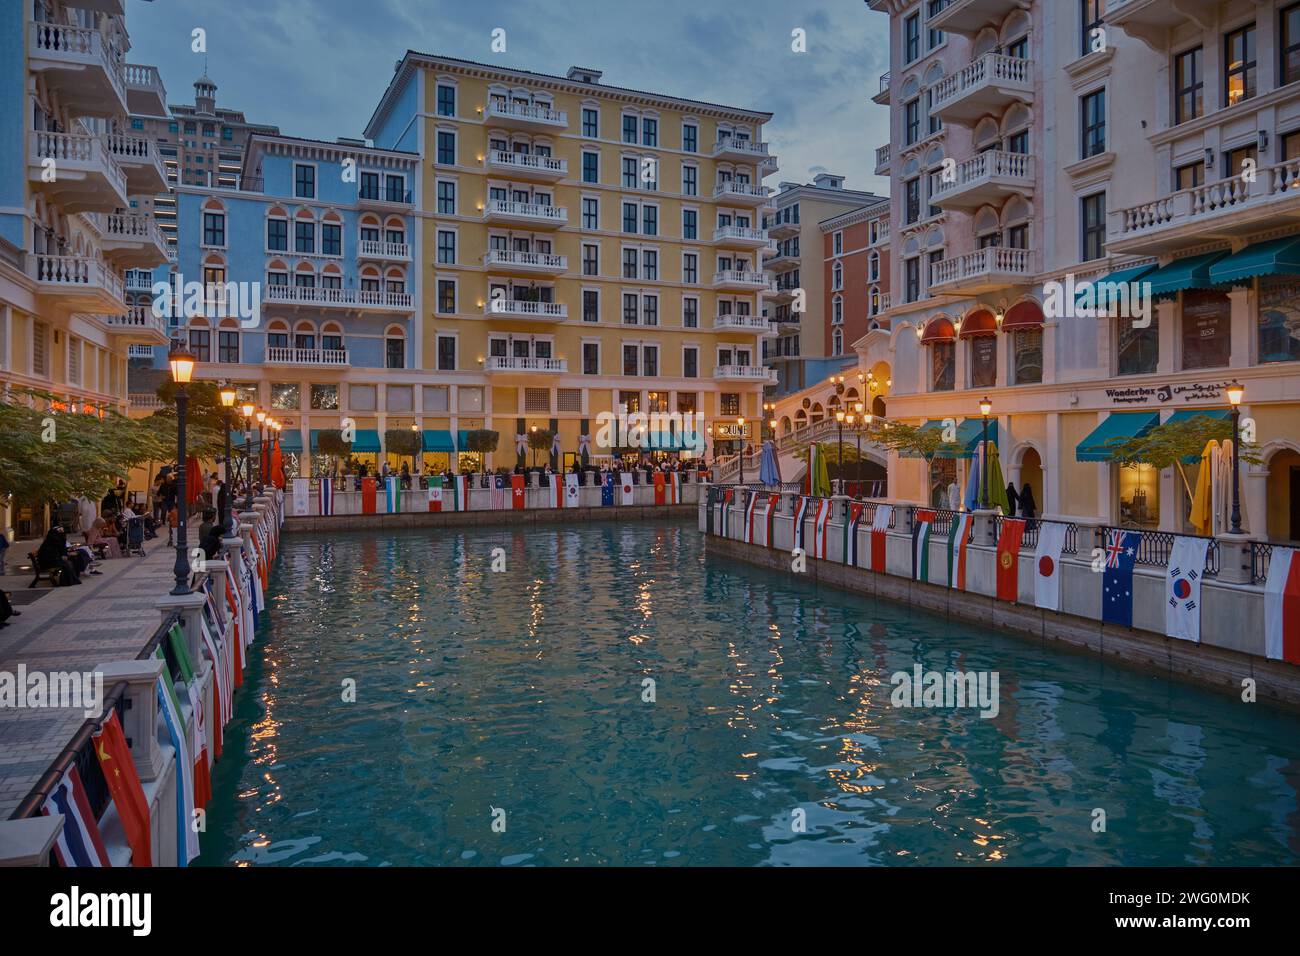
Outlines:
{"label": "distant grey-brown tower with small spire behind the light blue building", "polygon": [[[133,112],[131,133],[157,144],[168,186],[239,186],[244,150],[255,134],[277,135],[280,127],[248,122],[243,111],[217,107],[217,85],[207,70],[194,81],[194,103],[162,104],[157,113]],[[177,238],[177,199],[170,191],[140,200],[162,233]]]}

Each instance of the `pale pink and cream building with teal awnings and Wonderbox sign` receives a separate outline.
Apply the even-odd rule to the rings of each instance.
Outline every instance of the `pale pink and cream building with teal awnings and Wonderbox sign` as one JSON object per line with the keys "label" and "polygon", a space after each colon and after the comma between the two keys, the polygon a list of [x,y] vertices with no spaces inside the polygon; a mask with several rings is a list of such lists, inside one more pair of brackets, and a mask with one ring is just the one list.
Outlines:
{"label": "pale pink and cream building with teal awnings and Wonderbox sign", "polygon": [[[1105,444],[1225,416],[1236,380],[1262,459],[1247,527],[1300,538],[1300,4],[868,7],[889,16],[893,295],[858,352],[890,369],[889,416],[966,416],[970,436],[988,395],[1043,511],[1184,531],[1174,470]],[[1071,278],[1139,284],[1149,324],[1078,315]],[[926,501],[966,467],[892,459],[890,494]]]}

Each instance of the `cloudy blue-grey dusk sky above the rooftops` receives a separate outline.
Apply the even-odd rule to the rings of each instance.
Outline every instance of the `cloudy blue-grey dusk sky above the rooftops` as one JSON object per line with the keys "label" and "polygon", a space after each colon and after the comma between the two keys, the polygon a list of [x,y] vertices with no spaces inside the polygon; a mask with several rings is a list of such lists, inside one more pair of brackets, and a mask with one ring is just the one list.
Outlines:
{"label": "cloudy blue-grey dusk sky above the rooftops", "polygon": [[[203,27],[217,103],[292,135],[360,137],[411,48],[541,73],[581,64],[616,86],[766,109],[780,160],[768,185],[828,170],[888,186],[872,176],[888,111],[870,99],[888,18],[861,0],[130,0],[126,23],[130,60],[162,72],[170,101],[194,101]],[[806,53],[790,49],[796,27]]]}

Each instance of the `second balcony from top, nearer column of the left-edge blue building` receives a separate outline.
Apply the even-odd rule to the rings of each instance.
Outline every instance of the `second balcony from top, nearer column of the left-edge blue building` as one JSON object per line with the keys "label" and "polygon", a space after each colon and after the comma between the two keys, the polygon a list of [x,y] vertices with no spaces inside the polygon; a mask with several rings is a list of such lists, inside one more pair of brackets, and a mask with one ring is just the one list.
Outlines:
{"label": "second balcony from top, nearer column of the left-edge blue building", "polygon": [[126,173],[101,137],[38,130],[27,135],[27,176],[64,212],[113,212],[129,206]]}

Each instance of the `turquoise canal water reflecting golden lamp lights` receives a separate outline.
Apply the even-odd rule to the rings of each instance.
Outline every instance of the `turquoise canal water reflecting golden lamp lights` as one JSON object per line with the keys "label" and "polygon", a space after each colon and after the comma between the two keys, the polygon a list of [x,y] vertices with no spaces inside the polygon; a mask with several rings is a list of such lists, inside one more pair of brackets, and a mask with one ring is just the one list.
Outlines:
{"label": "turquoise canal water reflecting golden lamp lights", "polygon": [[[1300,719],[710,558],[688,524],[281,555],[202,864],[1300,860]],[[893,708],[918,661],[996,670],[997,717]]]}

